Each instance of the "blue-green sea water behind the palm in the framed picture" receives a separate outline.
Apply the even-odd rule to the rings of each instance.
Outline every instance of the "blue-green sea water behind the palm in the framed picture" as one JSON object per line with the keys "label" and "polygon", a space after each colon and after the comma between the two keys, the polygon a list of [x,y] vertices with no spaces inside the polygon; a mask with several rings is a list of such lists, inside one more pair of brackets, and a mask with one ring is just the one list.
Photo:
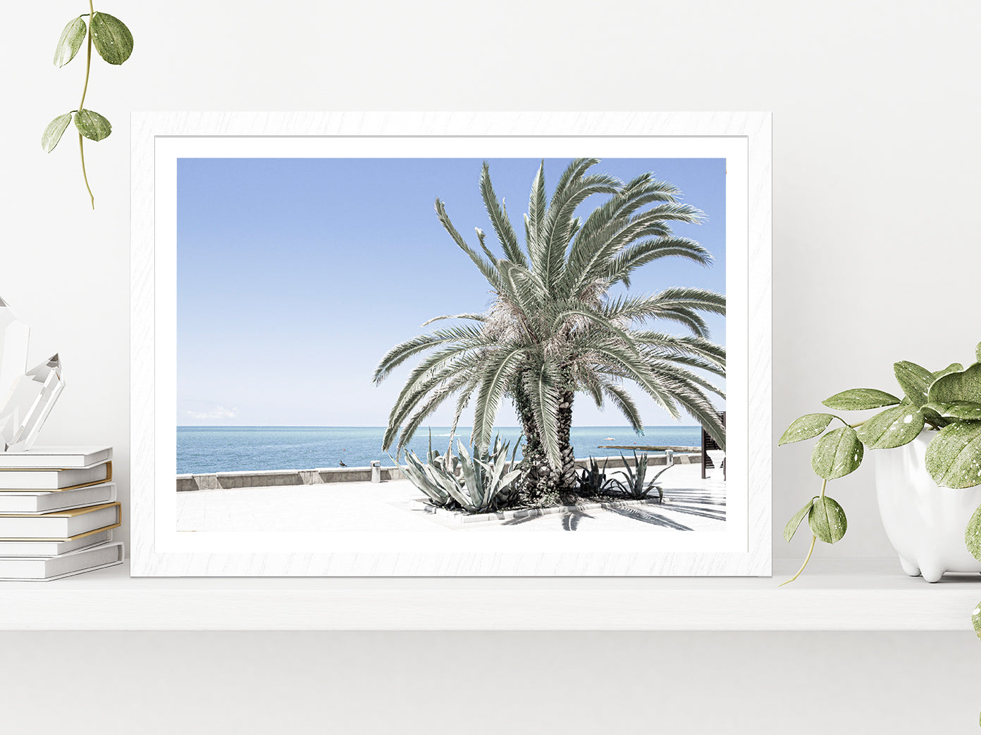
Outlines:
{"label": "blue-green sea water behind the palm in the framed picture", "polygon": [[[448,426],[433,426],[433,446],[445,451]],[[500,436],[518,438],[517,427],[501,427]],[[260,469],[313,469],[368,466],[381,460],[393,463],[382,451],[385,428],[380,426],[178,426],[178,474],[235,472]],[[458,427],[464,444],[470,427]],[[652,426],[638,436],[629,426],[574,426],[572,446],[576,457],[618,457],[621,450],[598,449],[600,444],[626,446],[692,446],[701,442],[698,426]],[[429,430],[420,429],[409,445],[420,457],[429,448]],[[454,441],[455,449],[455,441]],[[627,454],[629,450],[623,450]],[[394,454],[394,453],[392,453]],[[521,453],[518,453],[521,457]]]}

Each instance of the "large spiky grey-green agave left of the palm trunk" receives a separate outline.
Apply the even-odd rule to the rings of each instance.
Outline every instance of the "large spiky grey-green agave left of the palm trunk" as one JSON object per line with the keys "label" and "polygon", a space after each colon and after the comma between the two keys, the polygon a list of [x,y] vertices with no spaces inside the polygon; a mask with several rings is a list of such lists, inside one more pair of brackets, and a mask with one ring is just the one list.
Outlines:
{"label": "large spiky grey-green agave left of the palm trunk", "polygon": [[490,451],[475,449],[472,455],[463,442],[457,439],[456,443],[456,457],[452,449],[440,457],[433,451],[431,439],[425,465],[414,452],[406,452],[406,470],[413,484],[440,508],[458,506],[466,513],[488,513],[513,502],[517,497],[515,480],[521,474],[515,467],[518,445],[508,462],[509,443],[500,437]]}

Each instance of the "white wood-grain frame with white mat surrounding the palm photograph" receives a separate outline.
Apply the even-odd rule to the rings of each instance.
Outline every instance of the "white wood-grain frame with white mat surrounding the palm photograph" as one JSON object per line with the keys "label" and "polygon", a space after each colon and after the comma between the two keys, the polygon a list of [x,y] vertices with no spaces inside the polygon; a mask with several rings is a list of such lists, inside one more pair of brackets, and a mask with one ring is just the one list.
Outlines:
{"label": "white wood-grain frame with white mat surrounding the palm photograph", "polygon": [[[360,155],[377,150],[379,156],[432,156],[455,148],[473,153],[475,145],[508,152],[533,139],[556,155],[580,155],[566,152],[598,141],[619,155],[631,146],[643,147],[645,155],[666,146],[677,156],[727,157],[727,185],[738,196],[730,199],[727,190],[731,499],[724,540],[686,548],[682,541],[666,546],[665,534],[645,533],[509,534],[506,540],[486,533],[447,542],[440,538],[453,534],[178,532],[176,159],[330,157],[346,147]],[[770,575],[769,113],[138,113],[132,116],[131,145],[132,575]],[[588,155],[595,155],[592,149]],[[733,498],[737,494],[742,500]],[[656,543],[644,538],[658,535]]]}

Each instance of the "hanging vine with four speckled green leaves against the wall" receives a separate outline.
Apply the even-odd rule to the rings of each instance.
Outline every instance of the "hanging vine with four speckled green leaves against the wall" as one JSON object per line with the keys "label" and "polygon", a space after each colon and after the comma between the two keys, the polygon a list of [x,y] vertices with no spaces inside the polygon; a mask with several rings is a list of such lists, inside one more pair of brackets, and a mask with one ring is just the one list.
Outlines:
{"label": "hanging vine with four speckled green leaves against the wall", "polygon": [[[85,18],[88,18],[87,24],[84,21]],[[88,174],[85,172],[84,139],[102,140],[113,131],[113,126],[102,115],[85,108],[88,75],[92,68],[92,46],[95,46],[95,50],[105,61],[118,66],[129,59],[129,55],[132,53],[132,33],[129,32],[126,24],[115,16],[108,13],[96,13],[92,7],[92,0],[89,0],[88,13],[73,18],[62,31],[61,38],[58,39],[58,46],[55,48],[54,65],[61,68],[72,61],[76,57],[78,49],[81,48],[82,42],[86,42],[85,83],[81,88],[81,101],[78,103],[78,109],[59,115],[48,123],[41,134],[41,148],[46,153],[51,153],[58,145],[58,141],[61,140],[69,123],[75,123],[78,130],[81,177],[85,181],[85,189],[88,191],[88,197],[94,210],[95,197],[92,195],[92,187],[88,185]]]}

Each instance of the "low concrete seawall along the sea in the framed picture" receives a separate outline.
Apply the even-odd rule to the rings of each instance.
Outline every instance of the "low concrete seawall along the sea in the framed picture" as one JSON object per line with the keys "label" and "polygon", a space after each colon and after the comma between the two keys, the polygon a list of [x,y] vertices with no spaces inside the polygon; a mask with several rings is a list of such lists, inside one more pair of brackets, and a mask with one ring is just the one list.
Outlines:
{"label": "low concrete seawall along the sea in the framed picture", "polygon": [[[678,465],[691,465],[698,462],[697,454],[675,454],[674,461]],[[607,458],[597,458],[599,466]],[[651,455],[647,462],[650,466],[665,465],[666,455]],[[633,466],[633,458],[628,460]],[[576,465],[588,467],[589,459],[576,460]],[[619,457],[608,458],[606,465],[609,470],[622,467]],[[382,481],[400,480],[405,477],[398,467],[382,467]],[[371,467],[319,467],[316,469],[270,469],[264,471],[245,472],[211,472],[205,474],[179,474],[178,492],[193,492],[195,490],[232,490],[239,487],[277,487],[295,485],[324,485],[335,482],[371,482]]]}

